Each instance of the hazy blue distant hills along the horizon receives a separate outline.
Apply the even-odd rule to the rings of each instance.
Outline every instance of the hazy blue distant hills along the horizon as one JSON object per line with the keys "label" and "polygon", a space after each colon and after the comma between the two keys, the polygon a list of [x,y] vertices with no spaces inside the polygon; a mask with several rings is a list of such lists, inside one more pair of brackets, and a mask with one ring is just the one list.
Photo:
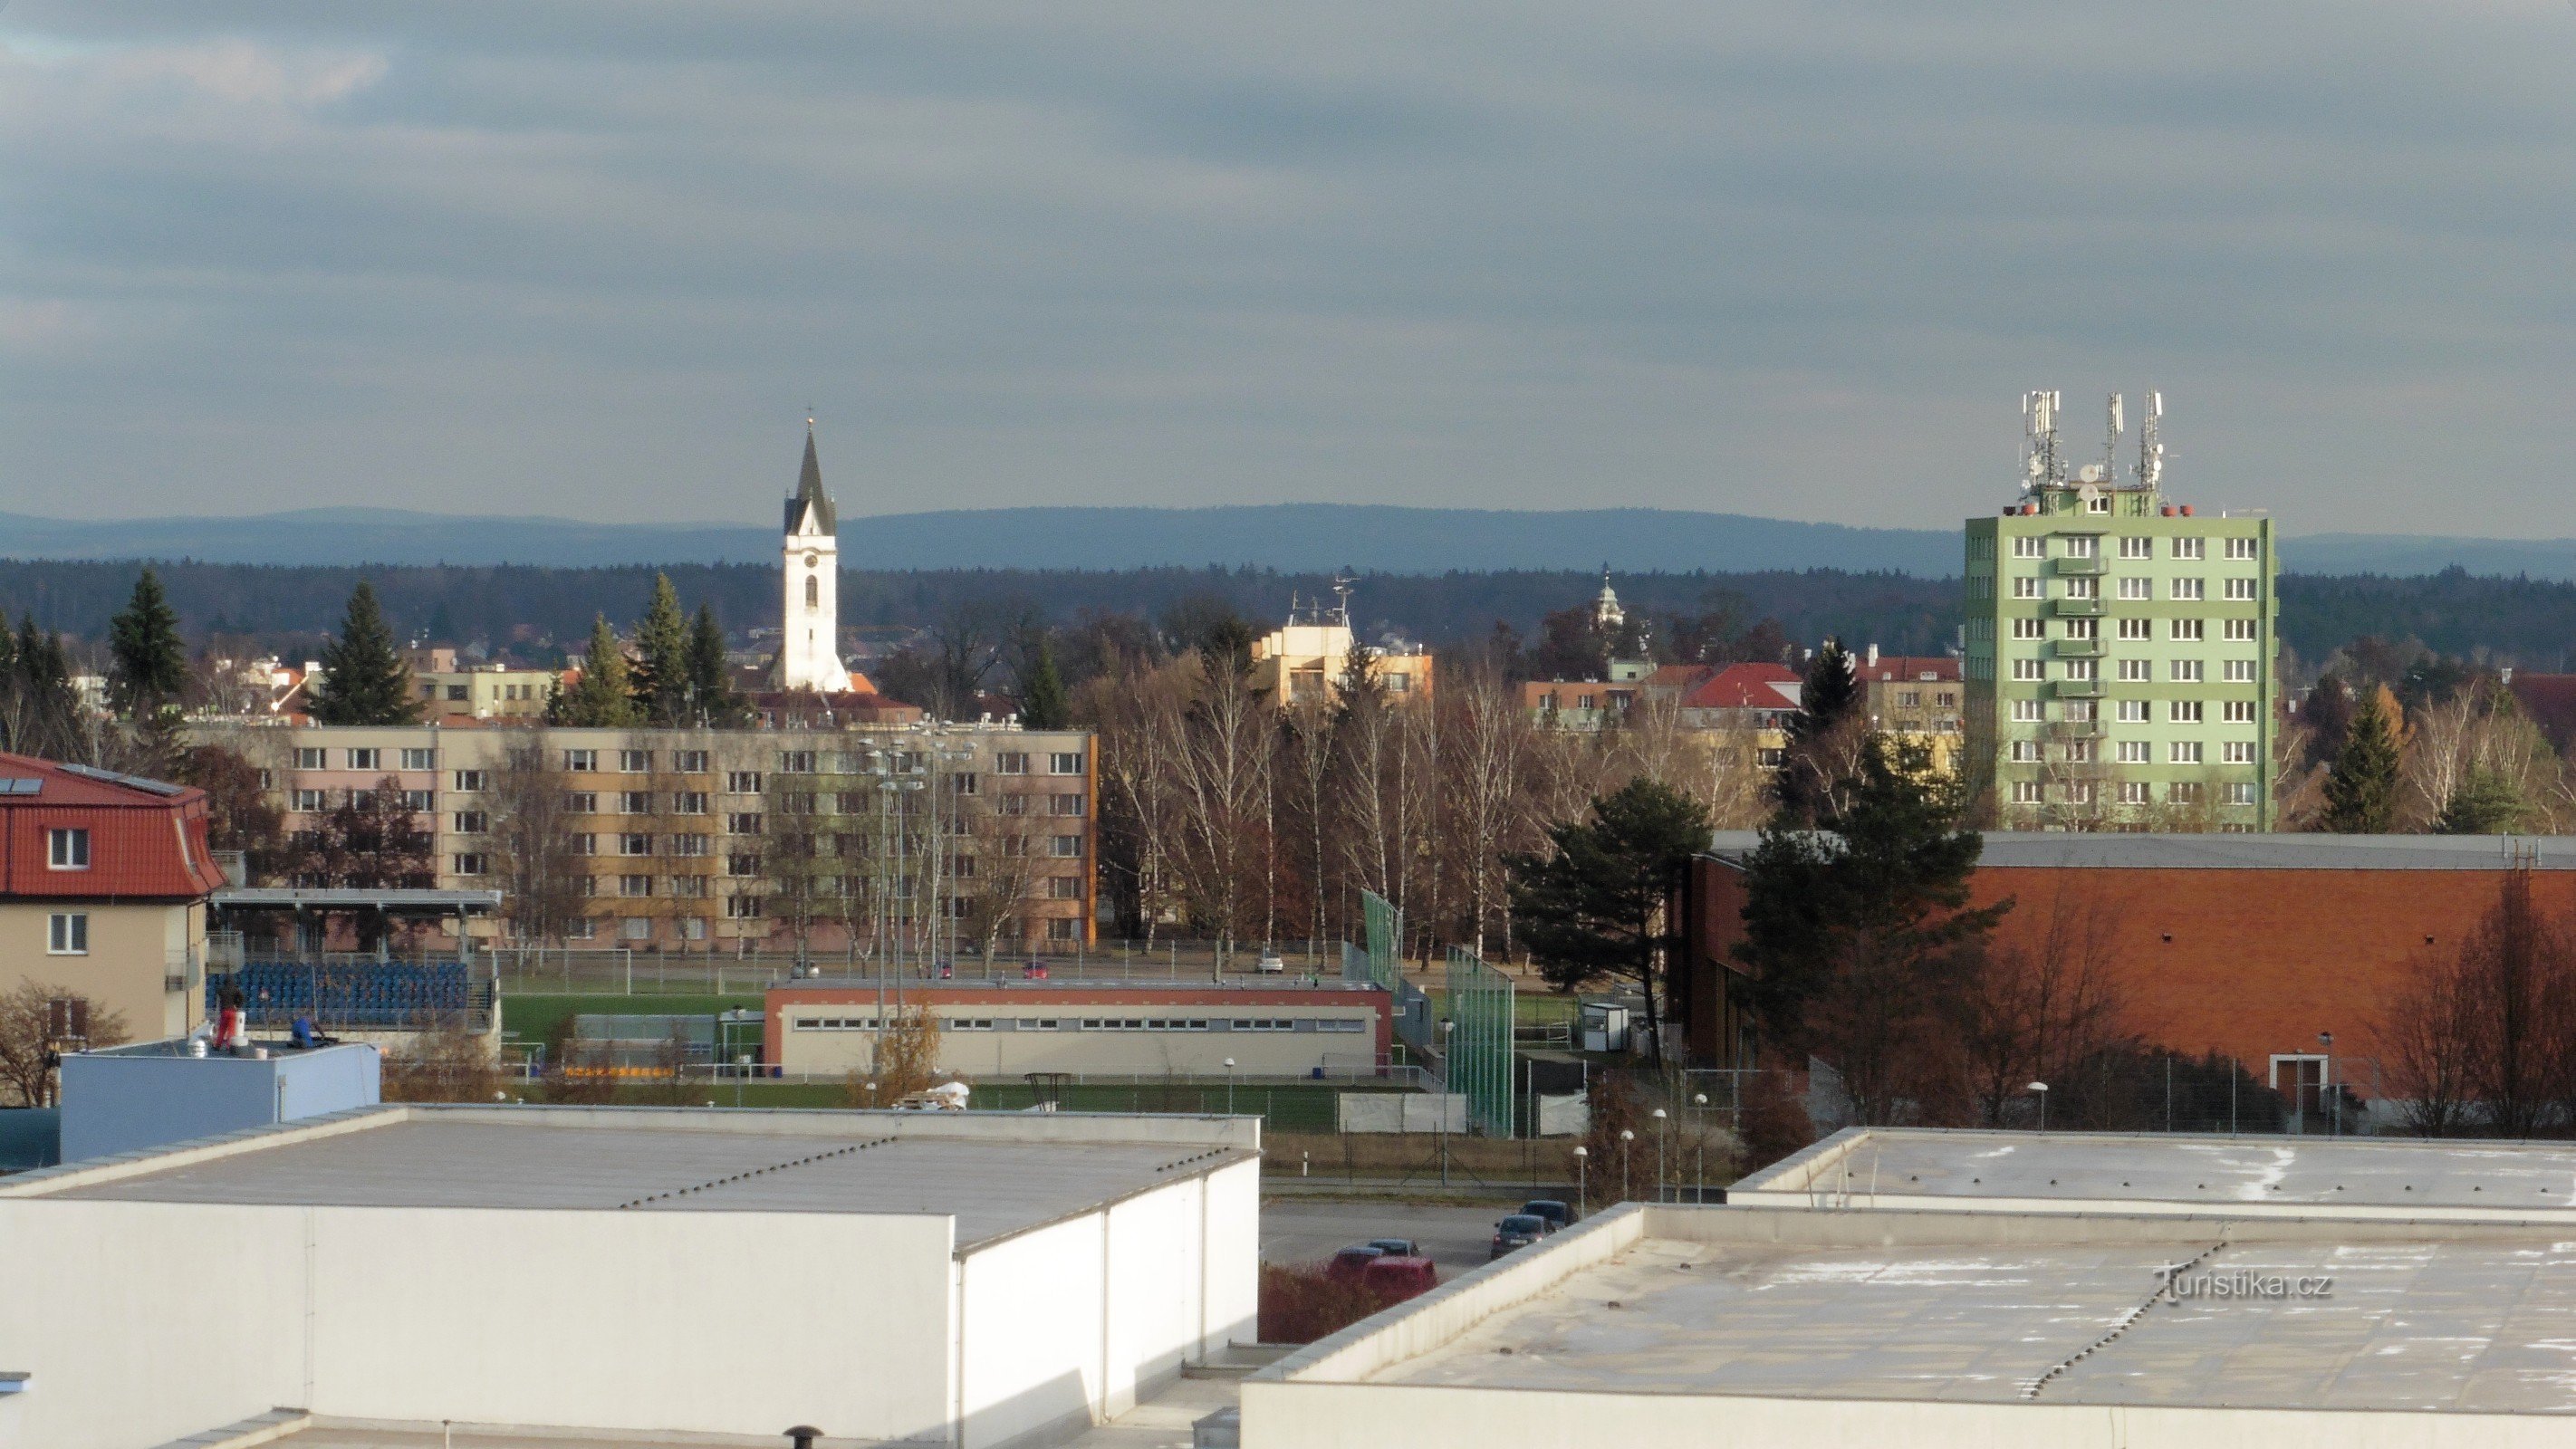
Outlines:
{"label": "hazy blue distant hills along the horizon", "polygon": [[[1558,571],[1741,574],[1777,569],[1958,574],[1958,533],[1847,528],[1649,507],[1510,512],[1463,507],[999,507],[842,517],[850,569],[1198,569],[1283,574]],[[201,564],[768,564],[765,522],[600,525],[330,507],[252,517],[59,520],[0,515],[0,558],[196,558]],[[2576,579],[2576,538],[2290,538],[2298,574],[2530,574]]]}

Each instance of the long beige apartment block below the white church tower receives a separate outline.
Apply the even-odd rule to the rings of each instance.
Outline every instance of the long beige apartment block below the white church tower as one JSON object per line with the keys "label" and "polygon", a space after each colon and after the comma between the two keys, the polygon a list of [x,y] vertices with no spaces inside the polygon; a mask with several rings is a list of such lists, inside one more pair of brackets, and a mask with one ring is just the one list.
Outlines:
{"label": "long beige apartment block below the white church tower", "polygon": [[[914,960],[1095,939],[1087,731],[201,723],[291,834],[392,780],[435,885],[502,891],[523,942]],[[451,927],[453,929],[453,927]],[[551,939],[549,939],[551,937]]]}

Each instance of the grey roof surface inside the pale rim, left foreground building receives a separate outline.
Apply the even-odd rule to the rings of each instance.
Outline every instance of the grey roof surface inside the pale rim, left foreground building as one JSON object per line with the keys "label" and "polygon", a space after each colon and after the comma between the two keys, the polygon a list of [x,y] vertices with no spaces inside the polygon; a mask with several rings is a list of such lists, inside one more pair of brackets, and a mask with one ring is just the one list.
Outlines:
{"label": "grey roof surface inside the pale rim, left foreground building", "polygon": [[665,1125],[386,1120],[44,1197],[325,1207],[891,1212],[956,1217],[961,1248],[1198,1176],[1193,1143],[961,1140]]}

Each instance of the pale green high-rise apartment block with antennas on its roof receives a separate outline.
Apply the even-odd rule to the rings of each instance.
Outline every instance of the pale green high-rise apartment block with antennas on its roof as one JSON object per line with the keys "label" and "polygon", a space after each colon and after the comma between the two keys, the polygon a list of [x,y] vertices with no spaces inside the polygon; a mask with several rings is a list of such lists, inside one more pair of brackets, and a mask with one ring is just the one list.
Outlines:
{"label": "pale green high-rise apartment block with antennas on its roof", "polygon": [[2269,831],[2272,520],[2164,497],[2151,396],[2138,463],[2074,479],[2056,394],[2030,394],[2022,499],[1968,520],[1968,767],[2002,829]]}

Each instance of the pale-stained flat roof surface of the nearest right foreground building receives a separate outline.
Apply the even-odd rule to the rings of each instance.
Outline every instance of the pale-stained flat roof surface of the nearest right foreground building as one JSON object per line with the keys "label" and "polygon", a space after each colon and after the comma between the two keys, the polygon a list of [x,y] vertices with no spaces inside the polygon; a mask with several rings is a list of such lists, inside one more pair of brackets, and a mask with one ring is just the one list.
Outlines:
{"label": "pale-stained flat roof surface of the nearest right foreground building", "polygon": [[[1646,1238],[1368,1382],[2576,1413],[2576,1243],[2218,1243]],[[2159,1269],[2208,1246],[2202,1271],[2326,1277],[2329,1292],[2154,1302]]]}

